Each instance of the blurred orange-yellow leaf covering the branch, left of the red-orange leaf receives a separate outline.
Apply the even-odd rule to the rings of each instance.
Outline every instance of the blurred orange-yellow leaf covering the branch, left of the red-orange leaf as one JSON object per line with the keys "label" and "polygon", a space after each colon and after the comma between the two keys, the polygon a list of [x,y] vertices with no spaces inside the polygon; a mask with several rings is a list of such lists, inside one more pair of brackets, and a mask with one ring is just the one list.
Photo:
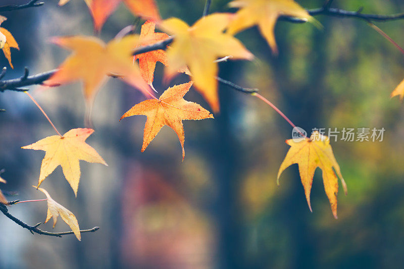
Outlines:
{"label": "blurred orange-yellow leaf covering the branch, left of the red-orange leaf", "polygon": [[136,35],[128,35],[105,44],[92,36],[54,38],[56,44],[73,50],[73,53],[44,84],[57,86],[82,80],[84,97],[87,104],[91,105],[99,87],[108,78],[107,75],[118,74],[125,82],[146,94],[149,87],[130,60],[138,39]]}

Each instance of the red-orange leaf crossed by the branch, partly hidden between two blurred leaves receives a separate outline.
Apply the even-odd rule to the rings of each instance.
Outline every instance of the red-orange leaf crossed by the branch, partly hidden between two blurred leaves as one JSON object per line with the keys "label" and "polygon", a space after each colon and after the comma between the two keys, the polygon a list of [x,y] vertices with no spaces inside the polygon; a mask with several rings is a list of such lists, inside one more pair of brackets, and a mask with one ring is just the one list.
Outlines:
{"label": "red-orange leaf crossed by the branch, partly hidden between two blurred leaves", "polygon": [[[156,23],[153,21],[146,21],[140,30],[140,45],[146,46],[161,42],[170,36],[166,33],[155,33]],[[168,59],[166,51],[163,49],[152,50],[149,52],[135,55],[135,60],[139,59],[140,73],[147,84],[151,84],[154,79],[154,72],[156,63],[160,62],[165,66],[168,66]],[[179,72],[190,75],[188,68],[182,68]]]}

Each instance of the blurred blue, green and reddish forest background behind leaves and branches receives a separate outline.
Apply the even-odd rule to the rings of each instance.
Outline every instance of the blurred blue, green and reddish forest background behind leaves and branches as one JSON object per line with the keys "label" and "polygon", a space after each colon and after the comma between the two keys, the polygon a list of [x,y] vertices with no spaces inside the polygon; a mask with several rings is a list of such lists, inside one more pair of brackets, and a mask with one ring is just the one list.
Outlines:
{"label": "blurred blue, green and reddish forest background behind leaves and branches", "polygon": [[[48,42],[58,35],[92,35],[84,1],[58,7],[44,0],[39,8],[5,12],[2,27],[20,45],[12,50],[14,71],[3,54],[6,78],[56,68],[69,54]],[[205,0],[158,0],[163,18],[192,24]],[[211,12],[229,11],[229,1],[212,1]],[[318,8],[323,0],[297,1]],[[0,0],[1,5],[25,0]],[[335,0],[333,7],[364,13],[404,12],[400,0]],[[273,57],[257,28],[237,35],[256,56],[250,63],[220,63],[220,76],[259,88],[297,126],[385,128],[383,142],[332,142],[348,185],[338,195],[334,220],[317,171],[310,213],[297,166],[276,185],[289,146],[290,126],[259,99],[220,86],[221,114],[215,120],[185,121],[185,160],[169,127],[140,153],[145,117],[118,119],[144,97],[110,79],[95,99],[95,133],[87,140],[109,167],[81,162],[77,199],[58,168],[42,184],[75,213],[80,228],[96,233],[52,238],[32,235],[0,216],[1,268],[348,268],[399,267],[404,253],[404,107],[389,94],[404,78],[404,56],[366,22],[317,16],[311,24],[279,22],[279,56]],[[120,5],[100,37],[113,38],[123,27],[142,21]],[[404,20],[376,23],[404,45]],[[155,88],[162,93],[162,64]],[[170,85],[186,82],[179,75]],[[79,83],[31,93],[64,133],[83,127],[84,101]],[[185,99],[210,109],[191,90]],[[54,130],[23,93],[0,93],[0,168],[2,189],[14,199],[42,199],[31,185],[39,176],[42,151],[23,150]],[[10,207],[29,224],[43,222],[46,202]],[[52,230],[52,224],[42,225]],[[61,220],[55,231],[69,230]]]}

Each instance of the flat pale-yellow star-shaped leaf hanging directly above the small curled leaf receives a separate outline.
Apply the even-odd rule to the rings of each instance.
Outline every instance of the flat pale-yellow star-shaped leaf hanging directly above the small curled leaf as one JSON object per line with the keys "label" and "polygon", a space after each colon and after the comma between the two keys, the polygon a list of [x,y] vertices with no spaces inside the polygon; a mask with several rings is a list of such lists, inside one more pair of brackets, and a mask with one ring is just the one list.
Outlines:
{"label": "flat pale-yellow star-shaped leaf hanging directly above the small curled leaf", "polygon": [[46,152],[42,160],[38,187],[48,175],[58,166],[61,166],[66,180],[77,196],[81,174],[79,160],[108,166],[95,149],[85,142],[93,132],[94,130],[86,128],[72,129],[63,136],[48,136],[36,143],[22,147]]}

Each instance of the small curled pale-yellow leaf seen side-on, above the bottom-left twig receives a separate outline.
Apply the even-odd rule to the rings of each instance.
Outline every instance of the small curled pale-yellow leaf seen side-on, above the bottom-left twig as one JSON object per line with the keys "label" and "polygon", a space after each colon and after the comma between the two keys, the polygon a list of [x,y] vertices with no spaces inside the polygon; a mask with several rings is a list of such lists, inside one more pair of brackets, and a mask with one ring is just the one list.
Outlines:
{"label": "small curled pale-yellow leaf seen side-on, above the bottom-left twig", "polygon": [[69,227],[72,229],[74,235],[77,237],[79,241],[81,241],[81,234],[80,234],[80,228],[79,224],[77,222],[76,217],[74,214],[69,211],[67,208],[65,208],[63,205],[57,203],[54,199],[52,199],[51,195],[42,188],[38,188],[36,186],[32,186],[34,188],[37,188],[41,192],[43,192],[46,195],[47,198],[47,214],[46,214],[46,220],[45,223],[47,223],[51,218],[54,220],[54,228],[56,223],[58,222],[58,216],[60,215],[62,217],[62,220],[69,225]]}

